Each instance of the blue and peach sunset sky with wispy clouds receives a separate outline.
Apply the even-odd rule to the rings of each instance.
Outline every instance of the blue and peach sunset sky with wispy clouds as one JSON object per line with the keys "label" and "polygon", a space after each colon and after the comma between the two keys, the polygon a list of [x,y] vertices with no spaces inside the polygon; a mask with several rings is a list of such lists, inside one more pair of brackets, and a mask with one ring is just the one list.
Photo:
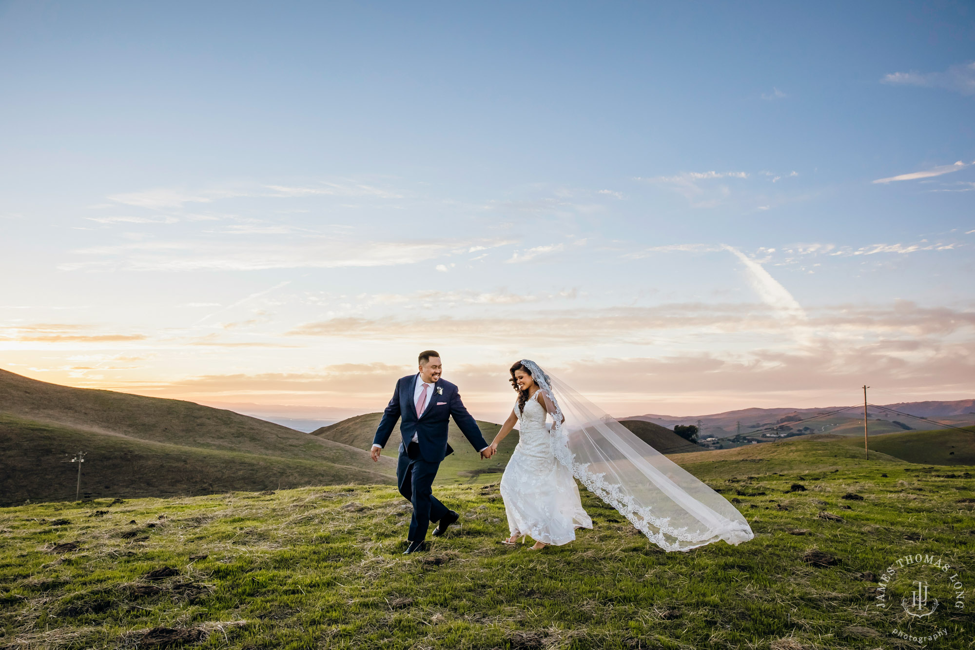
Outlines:
{"label": "blue and peach sunset sky with wispy clouds", "polygon": [[975,395],[975,5],[0,1],[0,368],[277,417]]}

